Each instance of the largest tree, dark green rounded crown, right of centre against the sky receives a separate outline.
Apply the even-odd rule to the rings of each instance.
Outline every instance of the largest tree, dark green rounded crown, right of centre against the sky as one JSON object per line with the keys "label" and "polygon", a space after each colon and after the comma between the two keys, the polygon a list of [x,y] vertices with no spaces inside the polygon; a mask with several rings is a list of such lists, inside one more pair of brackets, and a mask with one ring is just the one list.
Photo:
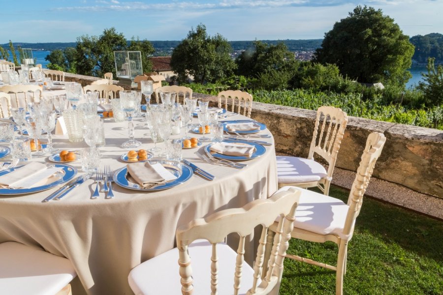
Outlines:
{"label": "largest tree, dark green rounded crown, right of centre against the sky", "polygon": [[389,16],[357,6],[325,34],[314,61],[336,64],[343,76],[364,83],[404,85],[414,47]]}

